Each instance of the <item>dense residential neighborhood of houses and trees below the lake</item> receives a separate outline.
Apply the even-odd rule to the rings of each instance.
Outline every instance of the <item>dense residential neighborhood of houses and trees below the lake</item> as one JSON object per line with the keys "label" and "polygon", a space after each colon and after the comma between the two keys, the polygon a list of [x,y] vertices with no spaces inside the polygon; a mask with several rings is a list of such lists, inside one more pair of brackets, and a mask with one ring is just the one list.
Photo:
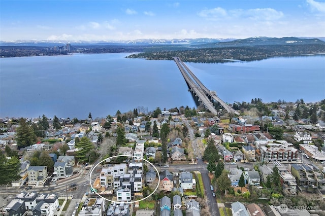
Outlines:
{"label": "dense residential neighborhood of houses and trees below the lake", "polygon": [[[1,119],[0,215],[295,215],[293,206],[311,202],[303,215],[325,213],[321,105],[263,105],[273,110],[232,118],[182,107]],[[297,118],[305,106],[316,123]],[[27,137],[32,126],[47,129]]]}

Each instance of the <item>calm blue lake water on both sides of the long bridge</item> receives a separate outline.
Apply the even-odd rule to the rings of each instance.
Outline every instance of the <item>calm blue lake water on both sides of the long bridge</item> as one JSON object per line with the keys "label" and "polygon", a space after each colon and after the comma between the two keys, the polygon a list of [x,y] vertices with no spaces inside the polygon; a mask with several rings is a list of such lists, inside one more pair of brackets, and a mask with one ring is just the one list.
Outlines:
{"label": "calm blue lake water on both sides of the long bridge", "polygon": [[[84,119],[137,107],[194,107],[174,61],[126,59],[128,53],[0,59],[0,117]],[[226,102],[314,102],[325,98],[325,58],[272,58],[224,64],[186,63]]]}

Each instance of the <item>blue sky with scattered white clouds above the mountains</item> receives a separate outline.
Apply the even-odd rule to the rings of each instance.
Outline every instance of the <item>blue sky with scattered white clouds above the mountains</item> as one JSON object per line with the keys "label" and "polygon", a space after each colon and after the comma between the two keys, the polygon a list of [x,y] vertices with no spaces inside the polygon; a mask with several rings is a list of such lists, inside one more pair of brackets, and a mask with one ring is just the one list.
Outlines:
{"label": "blue sky with scattered white clouds above the mountains", "polygon": [[325,0],[0,0],[0,40],[325,37]]}

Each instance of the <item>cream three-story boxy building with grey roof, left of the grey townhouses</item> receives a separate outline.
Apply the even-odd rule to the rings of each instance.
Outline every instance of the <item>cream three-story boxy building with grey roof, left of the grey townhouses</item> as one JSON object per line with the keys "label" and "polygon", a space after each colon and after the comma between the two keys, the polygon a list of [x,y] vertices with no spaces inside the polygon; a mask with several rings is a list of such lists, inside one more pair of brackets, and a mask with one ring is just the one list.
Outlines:
{"label": "cream three-story boxy building with grey roof, left of the grey townhouses", "polygon": [[29,166],[27,172],[29,186],[42,186],[46,182],[47,166]]}

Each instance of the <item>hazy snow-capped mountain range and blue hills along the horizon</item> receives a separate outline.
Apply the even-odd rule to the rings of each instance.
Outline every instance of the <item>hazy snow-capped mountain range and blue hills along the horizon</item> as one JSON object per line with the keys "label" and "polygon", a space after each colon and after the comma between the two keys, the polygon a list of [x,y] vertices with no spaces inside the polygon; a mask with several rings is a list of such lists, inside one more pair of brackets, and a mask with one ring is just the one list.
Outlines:
{"label": "hazy snow-capped mountain range and blue hills along the horizon", "polygon": [[132,41],[0,41],[1,46],[63,46],[71,44],[74,46],[83,45],[185,45],[192,48],[205,47],[231,47],[231,46],[254,46],[254,45],[288,45],[288,44],[325,44],[325,38],[268,38],[252,37],[247,39],[139,39]]}

